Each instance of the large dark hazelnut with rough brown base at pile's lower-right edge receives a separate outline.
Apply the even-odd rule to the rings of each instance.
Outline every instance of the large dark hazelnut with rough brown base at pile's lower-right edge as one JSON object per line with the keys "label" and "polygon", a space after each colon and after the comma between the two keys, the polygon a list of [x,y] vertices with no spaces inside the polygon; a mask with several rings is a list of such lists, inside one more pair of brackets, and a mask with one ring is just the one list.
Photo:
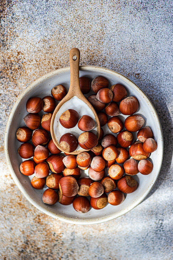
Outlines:
{"label": "large dark hazelnut with rough brown base at pile's lower-right edge", "polygon": [[125,175],[118,180],[117,188],[123,193],[132,193],[137,188],[137,181],[133,177]]}

